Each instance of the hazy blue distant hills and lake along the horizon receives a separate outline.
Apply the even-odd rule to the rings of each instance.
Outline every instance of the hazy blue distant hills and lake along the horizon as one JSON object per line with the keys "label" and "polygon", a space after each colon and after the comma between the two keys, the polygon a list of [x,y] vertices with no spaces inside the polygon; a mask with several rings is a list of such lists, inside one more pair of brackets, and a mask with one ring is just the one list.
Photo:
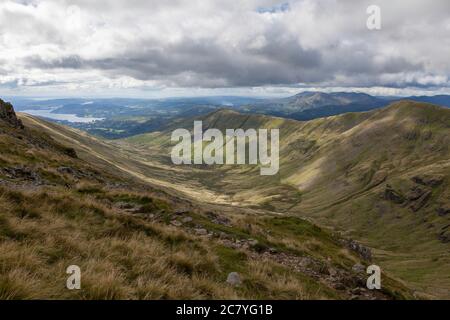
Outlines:
{"label": "hazy blue distant hills and lake along the horizon", "polygon": [[[351,92],[302,92],[277,99],[217,96],[167,99],[12,98],[11,100],[17,102],[18,111],[53,118],[53,121],[82,129],[90,134],[116,139],[161,131],[177,119],[201,116],[221,108],[295,120],[312,120],[346,112],[370,111],[402,99],[450,106],[450,96],[447,95],[398,98]],[[77,116],[78,119],[74,120],[71,115]],[[65,116],[67,120],[64,120]]]}

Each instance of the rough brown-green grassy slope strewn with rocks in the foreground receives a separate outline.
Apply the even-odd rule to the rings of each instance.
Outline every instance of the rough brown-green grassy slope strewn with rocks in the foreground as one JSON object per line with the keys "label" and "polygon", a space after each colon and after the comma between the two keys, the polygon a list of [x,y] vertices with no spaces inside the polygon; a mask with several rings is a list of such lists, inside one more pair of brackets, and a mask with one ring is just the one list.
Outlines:
{"label": "rough brown-green grassy slope strewn with rocks in the foreground", "polygon": [[[133,180],[132,169],[121,172],[125,160],[108,160],[115,149],[101,141],[22,119],[24,131],[0,122],[2,299],[345,299],[362,285],[351,266],[365,262],[304,220],[187,201]],[[75,147],[81,159],[49,135]],[[11,168],[33,175],[5,173]],[[173,226],[188,216],[192,221]],[[230,245],[248,239],[257,245]],[[264,254],[269,247],[277,254]],[[275,257],[311,266],[295,269]],[[82,269],[80,291],[65,289],[71,264]],[[344,290],[335,288],[330,270],[345,276]],[[231,271],[242,275],[241,287],[225,284]],[[371,297],[411,297],[392,279],[384,283]]]}

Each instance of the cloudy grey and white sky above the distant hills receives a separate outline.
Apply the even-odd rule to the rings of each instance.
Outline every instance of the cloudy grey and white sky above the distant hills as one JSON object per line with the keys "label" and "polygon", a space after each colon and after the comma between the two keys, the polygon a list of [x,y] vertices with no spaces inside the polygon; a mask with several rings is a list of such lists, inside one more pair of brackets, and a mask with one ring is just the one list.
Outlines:
{"label": "cloudy grey and white sky above the distant hills", "polygon": [[0,0],[0,96],[449,94],[449,57],[448,0]]}

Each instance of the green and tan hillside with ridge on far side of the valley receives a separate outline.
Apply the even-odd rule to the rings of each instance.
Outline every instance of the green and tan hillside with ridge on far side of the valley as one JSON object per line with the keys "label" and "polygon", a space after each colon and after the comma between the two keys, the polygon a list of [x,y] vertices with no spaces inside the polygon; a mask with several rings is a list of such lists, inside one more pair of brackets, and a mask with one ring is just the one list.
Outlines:
{"label": "green and tan hillside with ridge on far side of the valley", "polygon": [[[324,226],[377,248],[389,271],[417,290],[449,297],[449,217],[437,214],[450,204],[450,111],[403,101],[366,113],[297,122],[221,110],[203,117],[204,127],[280,128],[280,175],[261,177],[258,168],[184,167],[184,184],[198,181],[207,190],[225,190],[235,204],[311,217]],[[192,128],[192,121],[176,127]],[[169,163],[170,131],[127,139],[121,149]],[[151,172],[151,170],[149,170]],[[245,173],[245,174],[243,174]],[[414,177],[443,177],[423,186]],[[413,188],[431,196],[418,210],[384,197],[387,185],[407,198]],[[445,229],[447,227],[447,229]]]}

